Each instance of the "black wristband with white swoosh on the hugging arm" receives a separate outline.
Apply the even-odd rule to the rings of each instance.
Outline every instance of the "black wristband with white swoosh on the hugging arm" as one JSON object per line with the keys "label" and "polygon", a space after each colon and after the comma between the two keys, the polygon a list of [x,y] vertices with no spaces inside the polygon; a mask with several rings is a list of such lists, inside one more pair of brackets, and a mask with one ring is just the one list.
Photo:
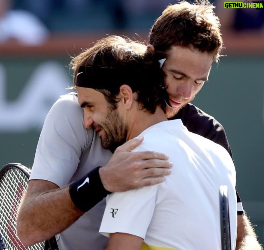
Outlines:
{"label": "black wristband with white swoosh on the hugging arm", "polygon": [[99,168],[96,167],[83,178],[69,186],[69,193],[74,205],[87,212],[111,192],[107,191],[100,179]]}

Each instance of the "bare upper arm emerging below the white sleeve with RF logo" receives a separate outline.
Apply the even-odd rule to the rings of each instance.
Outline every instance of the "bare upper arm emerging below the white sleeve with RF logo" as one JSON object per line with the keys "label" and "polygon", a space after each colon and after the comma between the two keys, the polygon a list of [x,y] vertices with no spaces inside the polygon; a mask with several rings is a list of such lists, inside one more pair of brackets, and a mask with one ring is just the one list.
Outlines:
{"label": "bare upper arm emerging below the white sleeve with RF logo", "polygon": [[140,250],[142,243],[143,239],[138,236],[127,233],[112,233],[105,250]]}

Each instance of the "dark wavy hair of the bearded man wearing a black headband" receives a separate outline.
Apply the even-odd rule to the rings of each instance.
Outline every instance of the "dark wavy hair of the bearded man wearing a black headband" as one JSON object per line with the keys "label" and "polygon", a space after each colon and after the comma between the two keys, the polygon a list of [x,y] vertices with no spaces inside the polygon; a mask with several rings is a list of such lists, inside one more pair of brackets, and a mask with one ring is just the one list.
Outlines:
{"label": "dark wavy hair of the bearded man wearing a black headband", "polygon": [[[117,71],[109,76],[109,81],[102,84],[96,83],[94,77],[94,89],[102,92],[112,109],[117,108],[116,98],[122,84],[127,84],[133,92],[136,92],[137,101],[142,109],[155,113],[156,107],[160,106],[165,112],[166,103],[164,95],[166,90],[162,85],[163,73],[160,64],[154,59],[152,52],[141,42],[135,42],[120,36],[108,36],[96,42],[81,54],[72,58],[70,63],[74,71],[74,87],[76,87],[80,66],[90,66],[91,69],[113,68]],[[88,76],[89,77],[89,76]],[[100,76],[101,77],[101,76]],[[98,75],[98,78],[100,78]],[[107,79],[107,76],[104,76]],[[88,81],[82,85],[89,87]],[[85,86],[86,87],[86,86]]]}

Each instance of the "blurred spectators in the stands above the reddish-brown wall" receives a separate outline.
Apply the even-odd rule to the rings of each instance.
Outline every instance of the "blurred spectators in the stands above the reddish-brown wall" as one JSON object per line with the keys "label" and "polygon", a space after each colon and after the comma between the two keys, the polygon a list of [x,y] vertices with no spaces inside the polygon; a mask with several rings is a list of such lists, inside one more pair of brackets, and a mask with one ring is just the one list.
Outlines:
{"label": "blurred spectators in the stands above the reddish-brown wall", "polygon": [[[49,32],[149,30],[162,10],[177,0],[0,0],[0,42],[37,45]],[[191,0],[189,0],[191,1]],[[225,9],[211,1],[222,32],[264,33],[264,11]]]}

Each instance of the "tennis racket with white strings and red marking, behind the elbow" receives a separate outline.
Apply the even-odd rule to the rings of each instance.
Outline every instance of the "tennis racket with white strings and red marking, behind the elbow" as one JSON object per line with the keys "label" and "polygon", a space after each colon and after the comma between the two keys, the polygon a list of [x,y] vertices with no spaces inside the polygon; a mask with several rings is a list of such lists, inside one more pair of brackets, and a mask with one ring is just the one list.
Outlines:
{"label": "tennis racket with white strings and red marking, behind the elbow", "polygon": [[[9,163],[0,171],[0,250],[56,250],[55,237],[49,241],[25,247],[18,239],[16,215],[22,196],[28,187],[30,169],[20,163]],[[52,244],[56,244],[52,248]]]}

